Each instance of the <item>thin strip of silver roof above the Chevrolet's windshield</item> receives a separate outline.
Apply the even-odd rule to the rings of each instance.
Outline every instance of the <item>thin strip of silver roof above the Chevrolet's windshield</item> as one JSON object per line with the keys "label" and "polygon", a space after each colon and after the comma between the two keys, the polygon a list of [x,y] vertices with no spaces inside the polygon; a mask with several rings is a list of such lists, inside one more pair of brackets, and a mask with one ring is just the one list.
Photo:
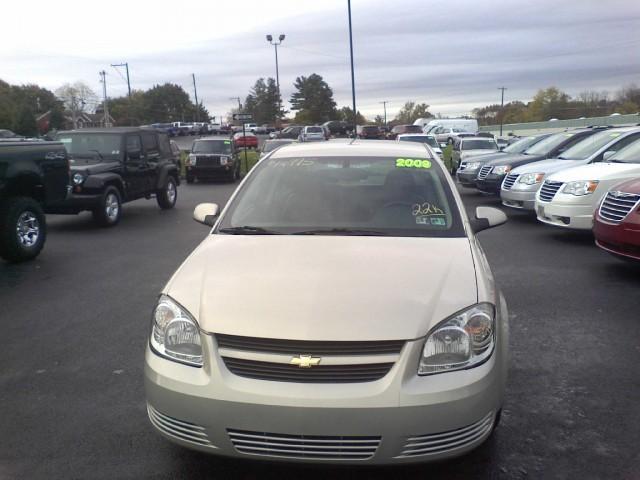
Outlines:
{"label": "thin strip of silver roof above the Chevrolet's windshield", "polygon": [[351,142],[292,143],[279,148],[271,158],[292,155],[314,157],[412,157],[428,155],[428,149],[415,142],[394,140],[353,140]]}

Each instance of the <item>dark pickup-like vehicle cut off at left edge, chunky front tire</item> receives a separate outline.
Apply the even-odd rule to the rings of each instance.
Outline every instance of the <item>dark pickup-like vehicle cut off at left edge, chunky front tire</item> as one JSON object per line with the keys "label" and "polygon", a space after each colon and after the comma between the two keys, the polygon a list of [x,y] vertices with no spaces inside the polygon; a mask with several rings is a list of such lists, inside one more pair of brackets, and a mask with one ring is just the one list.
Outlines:
{"label": "dark pickup-like vehicle cut off at left edge, chunky front tire", "polygon": [[0,142],[0,257],[35,258],[47,234],[43,208],[69,188],[69,161],[61,143]]}

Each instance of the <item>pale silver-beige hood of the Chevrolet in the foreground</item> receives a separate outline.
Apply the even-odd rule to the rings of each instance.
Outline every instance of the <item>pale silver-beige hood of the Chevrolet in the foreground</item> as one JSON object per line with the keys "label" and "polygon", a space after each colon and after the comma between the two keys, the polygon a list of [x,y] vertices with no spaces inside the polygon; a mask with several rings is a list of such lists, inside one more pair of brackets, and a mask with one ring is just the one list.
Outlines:
{"label": "pale silver-beige hood of the Chevrolet in the foreground", "polygon": [[477,302],[467,238],[209,235],[164,293],[211,333],[406,340]]}

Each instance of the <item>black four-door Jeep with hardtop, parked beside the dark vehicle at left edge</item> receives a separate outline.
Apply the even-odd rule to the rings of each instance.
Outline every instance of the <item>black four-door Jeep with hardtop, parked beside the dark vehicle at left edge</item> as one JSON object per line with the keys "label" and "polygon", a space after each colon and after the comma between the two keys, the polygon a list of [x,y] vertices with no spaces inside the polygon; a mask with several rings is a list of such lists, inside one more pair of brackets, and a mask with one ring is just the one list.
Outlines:
{"label": "black four-door Jeep with hardtop, parked beside the dark vehicle at left edge", "polygon": [[120,220],[122,204],[156,197],[160,208],[173,208],[180,184],[169,137],[155,129],[95,128],[60,132],[69,154],[72,193],[47,213],[93,212],[98,224]]}

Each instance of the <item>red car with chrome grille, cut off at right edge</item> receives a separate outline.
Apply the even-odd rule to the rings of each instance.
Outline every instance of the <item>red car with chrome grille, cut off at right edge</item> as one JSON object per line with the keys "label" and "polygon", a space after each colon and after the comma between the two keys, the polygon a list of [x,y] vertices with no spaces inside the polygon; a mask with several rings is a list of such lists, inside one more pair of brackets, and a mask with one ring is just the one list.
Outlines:
{"label": "red car with chrome grille, cut off at right edge", "polygon": [[640,261],[640,178],[607,192],[595,213],[593,234],[603,250]]}

